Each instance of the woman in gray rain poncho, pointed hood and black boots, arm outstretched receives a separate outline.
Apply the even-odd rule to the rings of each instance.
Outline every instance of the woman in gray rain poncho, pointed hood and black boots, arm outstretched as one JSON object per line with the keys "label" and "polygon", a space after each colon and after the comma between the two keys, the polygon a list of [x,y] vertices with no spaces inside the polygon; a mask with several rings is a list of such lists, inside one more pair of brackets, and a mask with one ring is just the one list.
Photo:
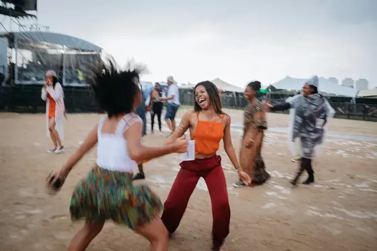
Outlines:
{"label": "woman in gray rain poncho, pointed hood and black boots, arm outstretched", "polygon": [[302,87],[302,95],[291,99],[289,102],[278,103],[275,105],[266,104],[270,110],[295,109],[293,128],[289,138],[294,142],[300,139],[302,156],[299,171],[293,185],[297,185],[301,174],[306,170],[308,178],[303,184],[314,182],[314,171],[312,168],[312,157],[317,146],[324,143],[325,124],[330,115],[331,106],[325,97],[318,93],[318,77],[314,76]]}

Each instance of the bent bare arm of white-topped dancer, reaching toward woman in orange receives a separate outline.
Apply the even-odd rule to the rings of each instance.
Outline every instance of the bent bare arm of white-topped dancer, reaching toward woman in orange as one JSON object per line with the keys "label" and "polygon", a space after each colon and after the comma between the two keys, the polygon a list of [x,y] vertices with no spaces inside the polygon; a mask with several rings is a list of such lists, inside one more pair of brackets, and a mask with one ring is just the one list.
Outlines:
{"label": "bent bare arm of white-topped dancer, reaching toward woman in orange", "polygon": [[169,144],[164,147],[145,147],[142,145],[142,122],[135,122],[125,131],[124,138],[127,139],[127,150],[130,158],[136,162],[142,160],[151,160],[163,155],[171,154],[177,151],[177,147]]}

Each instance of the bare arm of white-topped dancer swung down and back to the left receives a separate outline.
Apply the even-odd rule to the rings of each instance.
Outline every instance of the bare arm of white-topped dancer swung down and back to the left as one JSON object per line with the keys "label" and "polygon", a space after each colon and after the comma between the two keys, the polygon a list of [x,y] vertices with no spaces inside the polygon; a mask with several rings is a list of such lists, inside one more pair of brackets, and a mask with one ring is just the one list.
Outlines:
{"label": "bare arm of white-topped dancer swung down and back to the left", "polygon": [[95,126],[88,136],[86,136],[86,139],[84,143],[80,146],[80,148],[74,153],[68,161],[63,165],[62,170],[68,170],[70,171],[76,164],[81,160],[81,158],[90,150],[92,149],[95,144],[98,142],[97,138],[97,130],[98,125]]}

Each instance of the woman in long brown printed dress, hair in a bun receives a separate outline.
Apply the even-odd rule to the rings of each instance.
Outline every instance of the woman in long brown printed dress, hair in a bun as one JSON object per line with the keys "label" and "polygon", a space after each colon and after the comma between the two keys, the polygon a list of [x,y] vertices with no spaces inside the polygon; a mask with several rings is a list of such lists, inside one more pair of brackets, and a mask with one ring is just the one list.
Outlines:
{"label": "woman in long brown printed dress, hair in a bun", "polygon": [[[264,131],[267,129],[267,121],[263,104],[256,98],[261,89],[261,82],[254,81],[247,84],[244,96],[248,105],[243,112],[243,136],[239,153],[239,164],[252,178],[250,186],[262,185],[271,176],[266,171],[261,151]],[[233,187],[246,186],[242,180],[233,184]]]}

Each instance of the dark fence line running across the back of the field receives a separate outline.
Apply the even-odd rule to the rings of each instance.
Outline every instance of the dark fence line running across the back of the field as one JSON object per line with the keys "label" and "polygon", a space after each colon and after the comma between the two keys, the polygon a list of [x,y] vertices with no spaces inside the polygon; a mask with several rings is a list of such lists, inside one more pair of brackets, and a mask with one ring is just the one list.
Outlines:
{"label": "dark fence line running across the back of the field", "polygon": [[[42,86],[1,86],[0,109],[13,112],[45,112],[45,101],[41,99]],[[100,112],[96,104],[94,93],[89,88],[64,87],[64,97],[67,112]],[[183,105],[194,106],[194,96],[180,93]],[[282,102],[284,99],[271,99],[272,103]],[[221,96],[222,106],[232,109],[243,109],[247,101],[243,97]],[[335,109],[335,117],[377,121],[377,105],[331,102]],[[283,113],[288,113],[285,111]]]}

